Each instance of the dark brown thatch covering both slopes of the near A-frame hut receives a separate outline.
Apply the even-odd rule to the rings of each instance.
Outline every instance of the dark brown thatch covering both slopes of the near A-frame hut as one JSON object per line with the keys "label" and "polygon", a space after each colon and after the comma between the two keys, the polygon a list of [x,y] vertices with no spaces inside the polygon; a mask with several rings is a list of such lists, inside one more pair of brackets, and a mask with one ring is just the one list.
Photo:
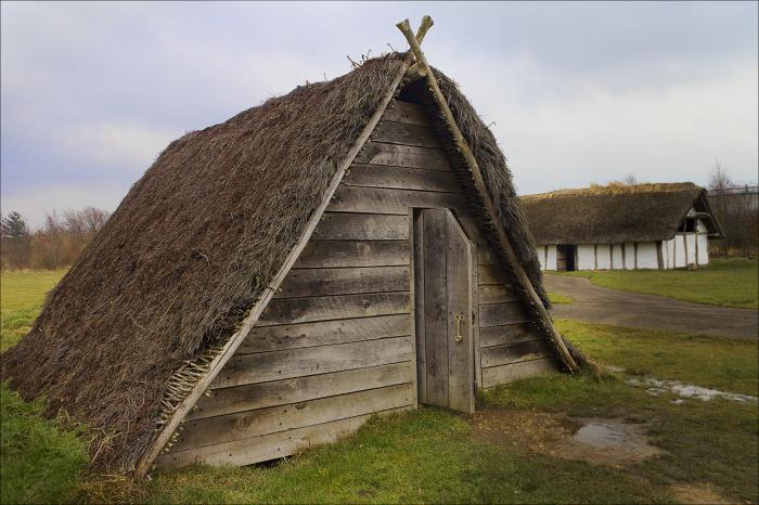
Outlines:
{"label": "dark brown thatch covering both slopes of the near A-frame hut", "polygon": [[[2,377],[108,441],[101,466],[133,468],[155,437],[172,371],[224,342],[245,318],[401,60],[368,61],[169,144],[2,355]],[[439,80],[542,294],[503,154],[455,83]]]}

